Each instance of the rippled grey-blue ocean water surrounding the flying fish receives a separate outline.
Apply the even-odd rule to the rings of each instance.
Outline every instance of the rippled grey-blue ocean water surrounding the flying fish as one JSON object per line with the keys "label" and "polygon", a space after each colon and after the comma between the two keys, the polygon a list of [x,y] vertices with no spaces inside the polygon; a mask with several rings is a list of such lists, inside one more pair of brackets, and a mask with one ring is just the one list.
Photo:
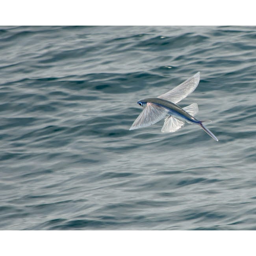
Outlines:
{"label": "rippled grey-blue ocean water surrounding the flying fish", "polygon": [[[0,28],[1,230],[255,230],[256,27]],[[197,119],[129,131],[196,72]]]}

